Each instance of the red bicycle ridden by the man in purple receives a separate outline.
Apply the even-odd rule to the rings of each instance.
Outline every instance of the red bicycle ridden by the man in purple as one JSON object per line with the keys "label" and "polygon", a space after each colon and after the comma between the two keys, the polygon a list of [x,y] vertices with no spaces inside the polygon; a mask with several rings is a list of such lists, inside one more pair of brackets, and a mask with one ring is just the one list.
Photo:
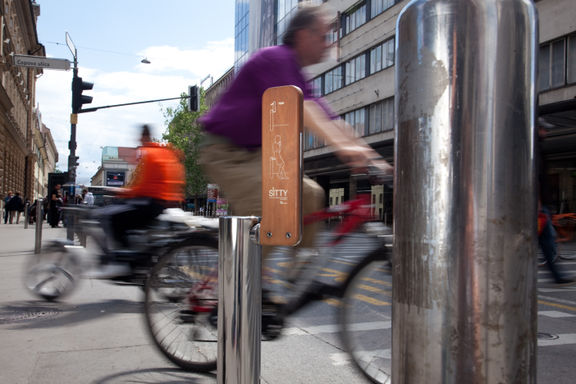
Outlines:
{"label": "red bicycle ridden by the man in purple", "polygon": [[[306,216],[304,224],[338,216],[342,222],[331,232],[327,245],[310,263],[301,263],[300,284],[288,284],[290,296],[281,307],[263,304],[262,335],[273,340],[284,321],[309,303],[339,299],[338,322],[344,349],[354,365],[374,383],[390,380],[386,357],[388,337],[373,337],[369,331],[390,328],[390,305],[383,300],[389,273],[392,234],[374,220],[370,195],[359,195],[337,207]],[[329,250],[364,229],[376,240],[375,249],[352,262],[347,276],[336,284],[320,282],[318,275],[330,261]],[[209,372],[216,369],[218,315],[218,243],[214,233],[203,241],[185,241],[187,248],[174,247],[152,268],[145,286],[146,328],[161,353],[179,367]],[[361,321],[361,323],[359,323]]]}

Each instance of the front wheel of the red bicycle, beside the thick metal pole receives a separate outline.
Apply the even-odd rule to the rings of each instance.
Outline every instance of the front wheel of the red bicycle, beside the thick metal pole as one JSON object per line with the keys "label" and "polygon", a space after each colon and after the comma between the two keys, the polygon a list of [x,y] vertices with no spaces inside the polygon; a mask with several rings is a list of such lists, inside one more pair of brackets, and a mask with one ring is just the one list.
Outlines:
{"label": "front wheel of the red bicycle, beside the thick metal pole", "polygon": [[339,321],[354,365],[372,383],[391,382],[392,271],[389,251],[370,253],[349,274]]}

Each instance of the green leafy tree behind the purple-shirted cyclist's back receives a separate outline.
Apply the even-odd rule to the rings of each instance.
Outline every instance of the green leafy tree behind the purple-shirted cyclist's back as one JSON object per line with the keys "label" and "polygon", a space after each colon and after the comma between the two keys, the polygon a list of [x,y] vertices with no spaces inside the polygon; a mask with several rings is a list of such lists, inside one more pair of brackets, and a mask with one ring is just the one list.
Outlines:
{"label": "green leafy tree behind the purple-shirted cyclist's back", "polygon": [[204,103],[204,92],[201,91],[200,110],[188,110],[187,94],[182,93],[182,99],[176,108],[167,108],[163,111],[166,122],[166,132],[162,139],[168,141],[184,155],[186,168],[186,198],[194,198],[194,209],[198,209],[198,196],[206,192],[206,178],[198,164],[200,156],[200,140],[202,128],[198,118],[204,114],[207,107]]}

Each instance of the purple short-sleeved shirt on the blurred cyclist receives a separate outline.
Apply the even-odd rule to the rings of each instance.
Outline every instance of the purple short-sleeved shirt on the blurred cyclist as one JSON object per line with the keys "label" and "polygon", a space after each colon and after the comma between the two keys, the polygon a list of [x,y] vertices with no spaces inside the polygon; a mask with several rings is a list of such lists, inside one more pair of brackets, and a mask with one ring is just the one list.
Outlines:
{"label": "purple short-sleeved shirt on the blurred cyclist", "polygon": [[313,95],[294,51],[279,45],[256,52],[200,122],[206,132],[226,137],[240,147],[260,148],[262,95],[266,89],[282,85],[299,87],[304,100],[316,100],[331,117],[335,117],[322,100]]}

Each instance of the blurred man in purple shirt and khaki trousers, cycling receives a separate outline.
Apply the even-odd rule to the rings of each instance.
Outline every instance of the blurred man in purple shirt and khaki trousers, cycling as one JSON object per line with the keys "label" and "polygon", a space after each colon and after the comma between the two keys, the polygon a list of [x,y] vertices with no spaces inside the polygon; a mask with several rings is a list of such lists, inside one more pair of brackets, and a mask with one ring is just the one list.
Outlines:
{"label": "blurred man in purple shirt and khaki trousers, cycling", "polygon": [[[385,172],[392,167],[353,129],[314,97],[302,71],[322,61],[330,47],[330,31],[321,7],[303,7],[290,21],[283,44],[255,53],[241,68],[228,90],[207,113],[200,164],[217,183],[235,215],[261,216],[262,95],[270,87],[296,85],[304,94],[304,128],[332,145],[336,155],[351,167],[375,165]],[[302,213],[324,207],[324,190],[304,177]],[[302,247],[312,247],[317,228],[304,228]],[[264,250],[266,253],[266,250]]]}

